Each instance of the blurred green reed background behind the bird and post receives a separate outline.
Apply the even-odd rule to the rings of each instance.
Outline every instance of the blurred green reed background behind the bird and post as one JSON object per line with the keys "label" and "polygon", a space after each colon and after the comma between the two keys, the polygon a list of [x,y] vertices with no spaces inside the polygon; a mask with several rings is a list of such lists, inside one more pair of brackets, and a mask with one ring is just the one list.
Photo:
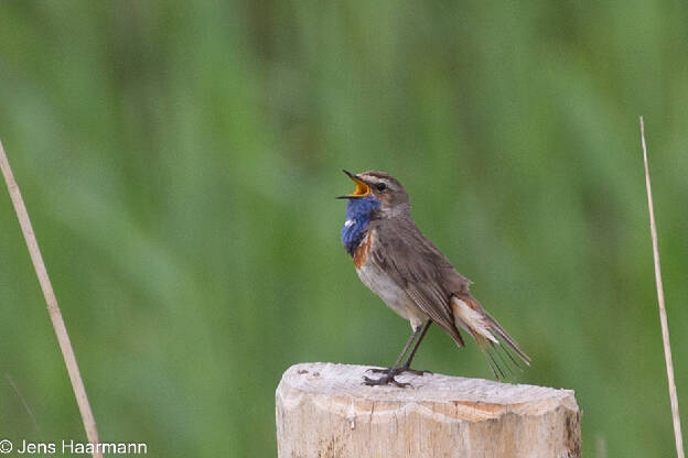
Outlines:
{"label": "blurred green reed background behind the bird and post", "polygon": [[[687,24],[647,0],[2,2],[0,138],[101,438],[275,456],[290,364],[394,361],[410,329],[341,247],[345,167],[405,184],[533,357],[518,382],[576,390],[584,456],[671,456],[638,116],[688,426]],[[4,189],[0,225],[0,435],[83,439]],[[417,366],[491,377],[439,328]]]}

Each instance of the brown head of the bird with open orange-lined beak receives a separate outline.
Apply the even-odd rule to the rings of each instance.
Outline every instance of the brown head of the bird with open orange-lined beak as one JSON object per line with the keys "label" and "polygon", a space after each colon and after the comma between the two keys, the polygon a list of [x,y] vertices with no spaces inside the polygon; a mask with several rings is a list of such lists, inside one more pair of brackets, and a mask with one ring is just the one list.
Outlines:
{"label": "brown head of the bird with open orange-lined beak", "polygon": [[368,171],[359,174],[343,172],[356,184],[356,190],[338,198],[375,197],[380,201],[379,212],[381,217],[390,218],[409,214],[411,204],[408,194],[394,176],[380,171]]}

